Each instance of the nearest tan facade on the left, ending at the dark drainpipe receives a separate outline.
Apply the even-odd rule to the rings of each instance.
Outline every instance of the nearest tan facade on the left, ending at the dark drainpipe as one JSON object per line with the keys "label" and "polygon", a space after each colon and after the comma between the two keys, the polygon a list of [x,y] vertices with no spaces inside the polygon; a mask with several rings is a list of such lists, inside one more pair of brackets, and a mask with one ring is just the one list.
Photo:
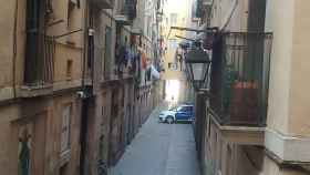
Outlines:
{"label": "nearest tan facade on the left, ending at the dark drainpipe", "polygon": [[84,3],[29,0],[6,6],[1,171],[76,174],[82,102],[75,92],[82,84]]}

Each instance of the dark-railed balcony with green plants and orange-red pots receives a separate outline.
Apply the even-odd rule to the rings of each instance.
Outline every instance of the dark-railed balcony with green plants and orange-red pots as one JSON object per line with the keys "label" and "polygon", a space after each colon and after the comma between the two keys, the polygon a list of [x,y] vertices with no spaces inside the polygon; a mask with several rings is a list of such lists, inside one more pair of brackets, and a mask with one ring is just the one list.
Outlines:
{"label": "dark-railed balcony with green plants and orange-red pots", "polygon": [[220,125],[266,125],[272,33],[224,33],[213,50],[209,110]]}

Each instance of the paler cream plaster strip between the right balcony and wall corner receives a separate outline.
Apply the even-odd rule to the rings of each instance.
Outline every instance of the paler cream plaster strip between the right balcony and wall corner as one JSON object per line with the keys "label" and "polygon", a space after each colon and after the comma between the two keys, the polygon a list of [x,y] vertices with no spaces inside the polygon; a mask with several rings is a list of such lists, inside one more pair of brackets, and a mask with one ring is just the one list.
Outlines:
{"label": "paler cream plaster strip between the right balcony and wall corner", "polygon": [[267,7],[266,31],[273,32],[267,125],[288,134],[294,1],[270,0]]}

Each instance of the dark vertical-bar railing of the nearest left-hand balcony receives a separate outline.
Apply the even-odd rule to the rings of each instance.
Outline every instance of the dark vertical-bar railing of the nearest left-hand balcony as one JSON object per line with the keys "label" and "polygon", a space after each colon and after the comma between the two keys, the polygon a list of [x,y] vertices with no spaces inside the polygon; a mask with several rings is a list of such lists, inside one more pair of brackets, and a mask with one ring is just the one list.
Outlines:
{"label": "dark vertical-bar railing of the nearest left-hand balcony", "polygon": [[46,85],[53,82],[54,38],[44,34],[37,35],[28,39],[27,42],[24,85],[28,86]]}

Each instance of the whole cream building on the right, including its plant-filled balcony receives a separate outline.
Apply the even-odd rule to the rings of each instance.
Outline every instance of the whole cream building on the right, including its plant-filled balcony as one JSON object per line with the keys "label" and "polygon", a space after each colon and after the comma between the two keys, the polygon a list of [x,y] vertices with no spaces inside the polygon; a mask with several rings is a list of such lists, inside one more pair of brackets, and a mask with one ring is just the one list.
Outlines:
{"label": "whole cream building on the right, including its plant-filled balcony", "polygon": [[204,39],[210,94],[196,99],[205,174],[309,174],[308,3],[198,1],[202,21],[219,29]]}

